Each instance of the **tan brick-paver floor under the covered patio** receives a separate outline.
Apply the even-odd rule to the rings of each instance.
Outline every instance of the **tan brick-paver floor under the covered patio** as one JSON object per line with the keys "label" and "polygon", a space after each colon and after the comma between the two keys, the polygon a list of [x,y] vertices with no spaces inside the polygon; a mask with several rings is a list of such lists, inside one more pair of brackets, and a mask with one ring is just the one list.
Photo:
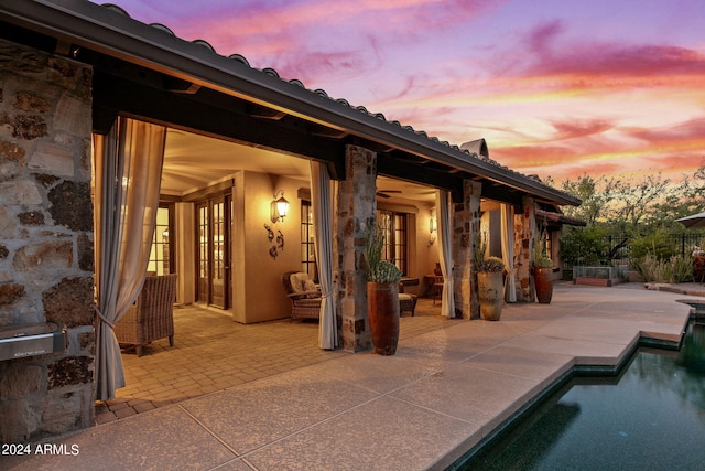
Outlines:
{"label": "tan brick-paver floor under the covered patio", "polygon": [[[401,318],[400,340],[454,325],[441,307],[420,298],[415,315]],[[106,424],[227,389],[279,373],[349,355],[318,347],[318,323],[288,319],[256,324],[234,322],[229,313],[198,306],[174,308],[174,346],[162,339],[122,351],[127,386],[116,399],[97,403],[96,424]]]}

